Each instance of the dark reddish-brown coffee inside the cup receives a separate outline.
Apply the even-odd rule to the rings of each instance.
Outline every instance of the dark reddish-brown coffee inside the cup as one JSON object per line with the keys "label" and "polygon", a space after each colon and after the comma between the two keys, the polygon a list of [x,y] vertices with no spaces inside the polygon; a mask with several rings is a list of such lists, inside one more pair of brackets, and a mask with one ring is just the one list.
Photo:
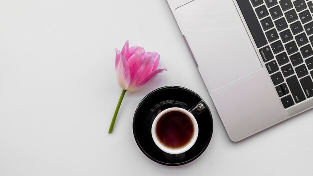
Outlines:
{"label": "dark reddish-brown coffee inside the cup", "polygon": [[156,124],[156,136],[166,147],[179,149],[193,137],[192,120],[183,112],[171,111],[164,114]]}

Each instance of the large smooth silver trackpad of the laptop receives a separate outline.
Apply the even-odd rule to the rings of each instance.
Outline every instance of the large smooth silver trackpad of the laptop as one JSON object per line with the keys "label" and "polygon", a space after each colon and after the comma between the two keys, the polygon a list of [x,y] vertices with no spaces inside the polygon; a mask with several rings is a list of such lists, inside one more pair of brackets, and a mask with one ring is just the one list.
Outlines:
{"label": "large smooth silver trackpad of the laptop", "polygon": [[210,91],[263,69],[232,0],[193,0],[175,13]]}

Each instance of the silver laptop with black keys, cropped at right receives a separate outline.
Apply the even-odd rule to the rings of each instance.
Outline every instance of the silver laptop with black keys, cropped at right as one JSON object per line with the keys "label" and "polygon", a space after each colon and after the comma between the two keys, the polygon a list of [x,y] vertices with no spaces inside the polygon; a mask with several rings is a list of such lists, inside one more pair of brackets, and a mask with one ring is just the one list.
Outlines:
{"label": "silver laptop with black keys, cropped at right", "polygon": [[232,141],[312,108],[312,0],[167,2]]}

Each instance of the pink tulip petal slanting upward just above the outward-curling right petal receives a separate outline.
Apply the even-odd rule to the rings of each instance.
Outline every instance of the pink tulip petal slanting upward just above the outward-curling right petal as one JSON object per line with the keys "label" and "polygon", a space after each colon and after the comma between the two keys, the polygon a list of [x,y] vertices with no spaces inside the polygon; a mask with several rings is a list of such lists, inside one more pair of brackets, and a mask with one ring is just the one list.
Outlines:
{"label": "pink tulip petal slanting upward just above the outward-curling right petal", "polygon": [[140,66],[140,68],[136,71],[133,79],[131,79],[130,87],[135,87],[138,83],[140,83],[146,76],[148,76],[154,65],[154,58],[151,55],[145,54],[144,60]]}

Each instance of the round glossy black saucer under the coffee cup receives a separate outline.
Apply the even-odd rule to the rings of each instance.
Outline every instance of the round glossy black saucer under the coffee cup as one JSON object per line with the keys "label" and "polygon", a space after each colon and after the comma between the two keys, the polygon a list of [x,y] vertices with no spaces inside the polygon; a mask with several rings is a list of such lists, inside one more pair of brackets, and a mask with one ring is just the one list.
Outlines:
{"label": "round glossy black saucer under the coffee cup", "polygon": [[183,165],[199,157],[208,146],[213,133],[213,119],[208,107],[196,117],[199,126],[198,139],[184,153],[168,154],[159,149],[152,139],[151,127],[161,111],[171,107],[190,109],[201,100],[203,99],[193,91],[178,86],[162,87],[144,97],[134,114],[132,126],[141,151],[153,161],[168,166]]}

